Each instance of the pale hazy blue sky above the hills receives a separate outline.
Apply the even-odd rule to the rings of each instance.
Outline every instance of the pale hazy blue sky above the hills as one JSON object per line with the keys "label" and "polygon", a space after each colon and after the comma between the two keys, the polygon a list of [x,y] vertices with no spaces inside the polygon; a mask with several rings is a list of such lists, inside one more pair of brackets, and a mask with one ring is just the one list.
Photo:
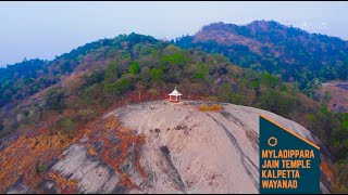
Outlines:
{"label": "pale hazy blue sky above the hills", "polygon": [[273,20],[348,40],[347,13],[348,2],[0,2],[0,66],[132,31],[170,40],[214,22]]}

